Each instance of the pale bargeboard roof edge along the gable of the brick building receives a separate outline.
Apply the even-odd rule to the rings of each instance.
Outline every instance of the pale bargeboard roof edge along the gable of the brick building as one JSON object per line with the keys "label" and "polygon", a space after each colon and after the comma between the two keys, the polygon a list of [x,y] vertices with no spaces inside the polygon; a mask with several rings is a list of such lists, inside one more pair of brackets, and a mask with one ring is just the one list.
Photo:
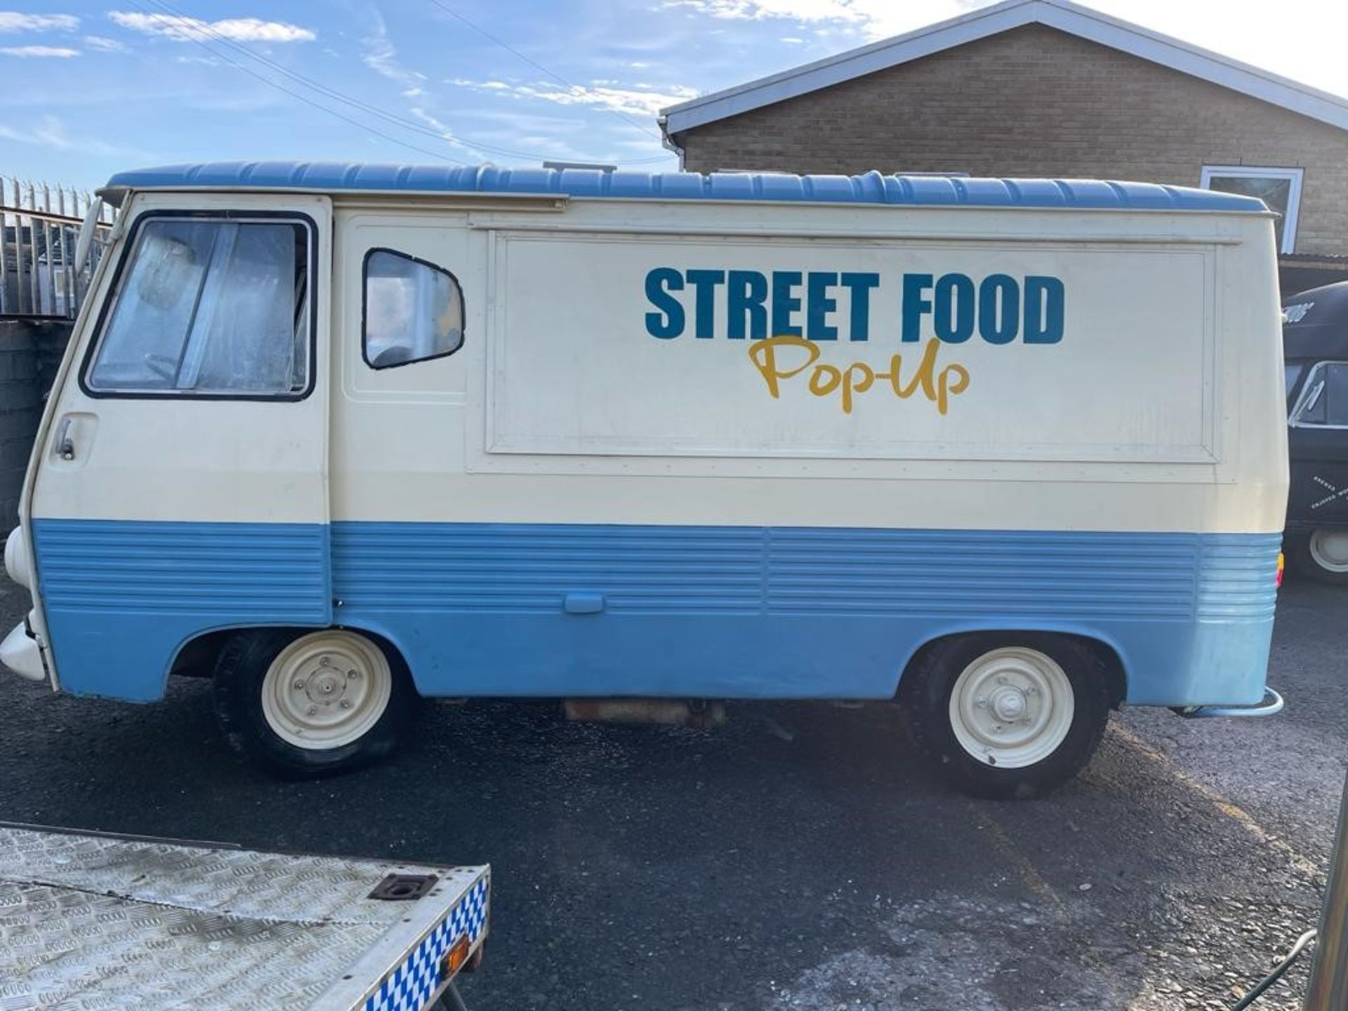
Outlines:
{"label": "pale bargeboard roof edge along the gable of the brick building", "polygon": [[1003,0],[905,35],[828,59],[704,94],[661,112],[666,137],[716,120],[795,98],[1026,24],[1045,24],[1091,42],[1229,88],[1302,116],[1348,129],[1348,98],[1242,63],[1188,42],[1092,11],[1070,0]]}

